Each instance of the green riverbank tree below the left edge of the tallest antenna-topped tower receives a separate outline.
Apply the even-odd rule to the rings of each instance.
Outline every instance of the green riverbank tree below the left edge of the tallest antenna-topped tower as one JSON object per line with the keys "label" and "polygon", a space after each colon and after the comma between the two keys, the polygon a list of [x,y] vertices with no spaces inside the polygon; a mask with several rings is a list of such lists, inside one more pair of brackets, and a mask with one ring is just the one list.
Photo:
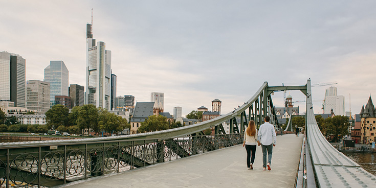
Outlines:
{"label": "green riverbank tree below the left edge of the tallest antenna-topped tower", "polygon": [[98,132],[98,109],[92,104],[83,105],[78,110],[76,124],[80,129],[92,128]]}

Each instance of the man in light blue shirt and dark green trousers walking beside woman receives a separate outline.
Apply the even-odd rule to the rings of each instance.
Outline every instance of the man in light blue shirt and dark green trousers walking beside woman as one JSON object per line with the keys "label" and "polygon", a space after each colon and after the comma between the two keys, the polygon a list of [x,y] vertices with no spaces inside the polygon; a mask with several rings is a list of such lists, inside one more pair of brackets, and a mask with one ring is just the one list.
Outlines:
{"label": "man in light blue shirt and dark green trousers walking beside woman", "polygon": [[[259,146],[261,145],[262,149],[262,162],[263,162],[263,169],[266,170],[268,168],[269,171],[272,169],[270,168],[270,164],[272,163],[272,153],[273,147],[277,143],[277,136],[275,133],[274,126],[269,123],[270,117],[265,116],[265,123],[262,124],[258,130],[257,137],[260,140]],[[267,152],[268,152],[268,163],[267,163]]]}

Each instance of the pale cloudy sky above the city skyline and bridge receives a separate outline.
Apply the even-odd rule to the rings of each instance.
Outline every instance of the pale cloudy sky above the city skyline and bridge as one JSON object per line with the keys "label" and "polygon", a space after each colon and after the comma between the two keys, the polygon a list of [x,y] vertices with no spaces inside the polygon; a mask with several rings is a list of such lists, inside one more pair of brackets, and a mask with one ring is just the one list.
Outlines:
{"label": "pale cloudy sky above the city skyline and bridge", "polygon": [[[314,112],[325,89],[338,88],[345,111],[376,99],[375,1],[5,1],[0,51],[26,59],[26,79],[43,80],[62,60],[69,84],[85,86],[86,23],[112,51],[117,96],[149,102],[164,92],[164,111],[183,116],[211,101],[222,114],[269,86],[313,87]],[[287,91],[305,112],[305,96]],[[272,96],[283,106],[283,92]],[[374,101],[376,102],[376,101]]]}

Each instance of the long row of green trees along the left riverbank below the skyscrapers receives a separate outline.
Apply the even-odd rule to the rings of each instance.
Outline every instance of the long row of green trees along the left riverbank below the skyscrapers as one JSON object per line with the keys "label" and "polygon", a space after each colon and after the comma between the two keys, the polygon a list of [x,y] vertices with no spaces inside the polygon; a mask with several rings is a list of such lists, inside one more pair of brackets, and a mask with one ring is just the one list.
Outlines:
{"label": "long row of green trees along the left riverbank below the skyscrapers", "polygon": [[97,108],[94,105],[83,105],[73,107],[71,113],[63,105],[54,105],[46,112],[46,125],[21,125],[17,117],[6,117],[0,110],[0,132],[36,132],[46,133],[53,128],[60,132],[70,132],[80,134],[82,129],[92,129],[94,132],[120,132],[125,128],[130,128],[127,120],[106,109]]}

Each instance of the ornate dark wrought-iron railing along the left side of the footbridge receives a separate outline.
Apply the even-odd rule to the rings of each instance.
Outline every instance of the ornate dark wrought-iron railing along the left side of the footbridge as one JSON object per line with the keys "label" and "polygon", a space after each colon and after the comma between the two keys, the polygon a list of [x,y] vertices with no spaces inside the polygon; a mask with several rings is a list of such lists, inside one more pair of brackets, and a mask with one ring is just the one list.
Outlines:
{"label": "ornate dark wrought-iron railing along the left side of the footbridge", "polygon": [[0,186],[56,186],[238,145],[243,138],[236,133],[5,147]]}

